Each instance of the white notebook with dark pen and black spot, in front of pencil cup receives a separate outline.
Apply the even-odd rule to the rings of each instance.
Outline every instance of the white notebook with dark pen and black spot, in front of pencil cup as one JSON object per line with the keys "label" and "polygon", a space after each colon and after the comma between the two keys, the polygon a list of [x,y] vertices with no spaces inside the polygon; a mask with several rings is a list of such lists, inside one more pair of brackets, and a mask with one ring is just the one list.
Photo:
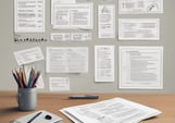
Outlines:
{"label": "white notebook with dark pen and black spot, in front of pencil cup", "polygon": [[63,123],[62,119],[45,110],[18,118],[10,123]]}

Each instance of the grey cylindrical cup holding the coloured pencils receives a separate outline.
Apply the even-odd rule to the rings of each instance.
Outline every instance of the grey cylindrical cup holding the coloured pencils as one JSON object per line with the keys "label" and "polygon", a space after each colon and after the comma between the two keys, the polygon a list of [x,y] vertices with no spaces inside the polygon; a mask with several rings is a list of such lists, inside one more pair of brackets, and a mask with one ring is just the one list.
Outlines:
{"label": "grey cylindrical cup holding the coloured pencils", "polygon": [[21,111],[35,110],[37,107],[37,88],[18,88],[17,103]]}

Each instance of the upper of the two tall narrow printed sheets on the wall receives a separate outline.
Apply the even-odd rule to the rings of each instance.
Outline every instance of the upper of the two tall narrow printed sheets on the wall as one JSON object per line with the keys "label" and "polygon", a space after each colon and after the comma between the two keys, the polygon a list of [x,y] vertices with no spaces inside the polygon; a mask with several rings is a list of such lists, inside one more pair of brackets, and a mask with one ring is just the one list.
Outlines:
{"label": "upper of the two tall narrow printed sheets on the wall", "polygon": [[115,5],[98,7],[98,37],[115,38]]}

